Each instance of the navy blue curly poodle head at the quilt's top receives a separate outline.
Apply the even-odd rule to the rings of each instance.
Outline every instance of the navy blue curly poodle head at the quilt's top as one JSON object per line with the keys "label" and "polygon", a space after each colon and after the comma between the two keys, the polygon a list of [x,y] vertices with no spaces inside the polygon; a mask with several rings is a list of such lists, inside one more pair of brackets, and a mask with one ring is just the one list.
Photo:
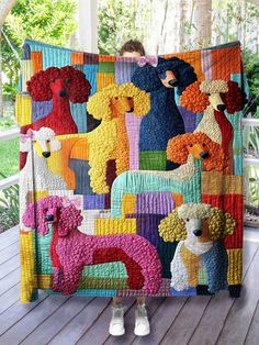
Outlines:
{"label": "navy blue curly poodle head at the quilt's top", "polygon": [[159,57],[156,67],[148,64],[137,67],[132,77],[132,81],[147,92],[164,87],[169,89],[178,87],[178,94],[195,80],[196,74],[193,67],[178,57],[168,59]]}

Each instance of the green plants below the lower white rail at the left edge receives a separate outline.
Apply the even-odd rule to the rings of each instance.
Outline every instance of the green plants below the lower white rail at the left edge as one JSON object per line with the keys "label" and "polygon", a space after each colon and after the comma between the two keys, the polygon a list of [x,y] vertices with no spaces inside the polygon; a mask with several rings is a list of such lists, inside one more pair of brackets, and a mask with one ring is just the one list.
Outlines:
{"label": "green plants below the lower white rail at the left edge", "polygon": [[[0,177],[5,176],[0,172]],[[0,193],[0,232],[19,224],[19,187],[4,189]]]}

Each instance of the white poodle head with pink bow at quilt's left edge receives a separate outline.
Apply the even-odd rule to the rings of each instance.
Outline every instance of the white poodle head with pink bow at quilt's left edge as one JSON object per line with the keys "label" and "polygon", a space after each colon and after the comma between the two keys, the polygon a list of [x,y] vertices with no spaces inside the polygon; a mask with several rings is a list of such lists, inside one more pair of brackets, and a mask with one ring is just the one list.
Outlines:
{"label": "white poodle head with pink bow at quilt's left edge", "polygon": [[61,143],[55,138],[55,132],[49,127],[41,127],[38,131],[29,130],[27,134],[21,134],[21,152],[35,151],[40,158],[48,158],[52,152],[59,151]]}

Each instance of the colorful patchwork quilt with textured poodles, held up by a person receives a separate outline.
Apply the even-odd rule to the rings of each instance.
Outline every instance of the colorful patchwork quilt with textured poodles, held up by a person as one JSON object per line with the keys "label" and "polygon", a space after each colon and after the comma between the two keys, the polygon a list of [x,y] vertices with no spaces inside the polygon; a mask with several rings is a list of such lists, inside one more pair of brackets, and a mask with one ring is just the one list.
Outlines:
{"label": "colorful patchwork quilt with textured poodles, held up by a person", "polygon": [[21,301],[238,297],[247,93],[238,42],[126,58],[25,41]]}

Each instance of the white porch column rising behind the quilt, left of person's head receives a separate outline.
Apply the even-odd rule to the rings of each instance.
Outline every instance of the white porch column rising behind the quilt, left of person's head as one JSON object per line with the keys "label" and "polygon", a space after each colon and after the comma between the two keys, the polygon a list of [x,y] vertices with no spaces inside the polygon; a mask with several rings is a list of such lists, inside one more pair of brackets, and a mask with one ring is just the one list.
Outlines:
{"label": "white porch column rising behind the quilt, left of person's head", "polygon": [[86,52],[98,53],[97,0],[78,0],[79,45]]}

